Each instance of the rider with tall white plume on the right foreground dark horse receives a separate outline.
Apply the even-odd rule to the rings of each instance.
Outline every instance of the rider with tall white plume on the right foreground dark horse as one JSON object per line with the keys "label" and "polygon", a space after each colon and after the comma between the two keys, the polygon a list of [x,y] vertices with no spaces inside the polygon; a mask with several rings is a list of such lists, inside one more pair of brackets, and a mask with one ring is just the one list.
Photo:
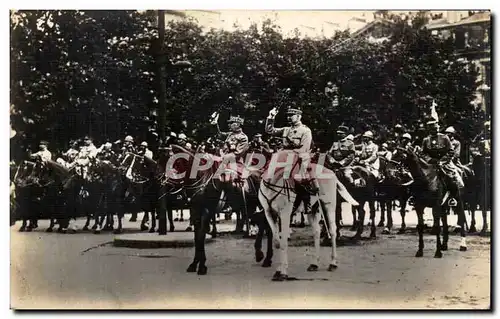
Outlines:
{"label": "rider with tall white plume on the right foreground dark horse", "polygon": [[[445,134],[439,133],[437,120],[428,121],[427,125],[430,134],[423,141],[422,158],[428,163],[439,164],[443,172],[451,179],[453,186],[463,188],[462,176],[452,162],[455,154],[450,139]],[[449,205],[455,206],[456,200],[450,199]]]}

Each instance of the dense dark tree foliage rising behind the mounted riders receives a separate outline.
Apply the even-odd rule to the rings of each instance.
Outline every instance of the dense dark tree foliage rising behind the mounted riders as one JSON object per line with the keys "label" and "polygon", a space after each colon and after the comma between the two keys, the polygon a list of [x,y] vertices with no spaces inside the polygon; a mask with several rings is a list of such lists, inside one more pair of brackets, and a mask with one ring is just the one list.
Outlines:
{"label": "dense dark tree foliage rising behind the mounted riders", "polygon": [[[131,134],[148,139],[158,93],[154,12],[20,11],[11,21],[12,127],[20,145],[48,139],[65,147],[92,135],[103,142]],[[301,107],[316,144],[328,147],[335,127],[380,137],[397,123],[413,132],[434,99],[445,125],[474,136],[480,112],[477,71],[457,61],[451,41],[421,28],[424,15],[388,16],[393,36],[383,43],[357,39],[341,50],[332,38],[284,38],[271,21],[234,32],[203,32],[195,21],[169,22],[167,125],[193,138],[210,134],[208,118],[245,118],[245,131],[263,131],[268,111]],[[173,62],[188,59],[180,69]],[[339,105],[325,94],[339,88]],[[278,124],[285,124],[281,112]],[[221,123],[225,126],[225,123]],[[54,146],[52,146],[54,148]]]}

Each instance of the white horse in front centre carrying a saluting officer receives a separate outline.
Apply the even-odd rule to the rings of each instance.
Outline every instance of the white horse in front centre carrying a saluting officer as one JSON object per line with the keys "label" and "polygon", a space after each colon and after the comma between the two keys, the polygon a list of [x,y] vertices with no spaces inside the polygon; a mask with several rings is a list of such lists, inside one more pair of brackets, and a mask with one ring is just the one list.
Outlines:
{"label": "white horse in front centre carrying a saluting officer", "polygon": [[[295,165],[297,166],[297,165]],[[331,260],[328,266],[328,271],[333,271],[337,268],[337,245],[336,245],[336,223],[335,223],[335,207],[337,201],[337,190],[339,194],[351,205],[358,206],[358,203],[349,194],[345,186],[337,180],[335,173],[322,165],[311,164],[311,178],[315,180],[318,188],[317,195],[311,196],[311,206],[318,204],[319,212],[325,214],[328,221],[329,236],[332,241]],[[296,171],[296,169],[292,169]],[[268,170],[269,171],[269,170]],[[290,216],[293,210],[293,203],[297,196],[296,185],[297,180],[284,174],[283,169],[277,169],[275,172],[263,174],[260,184],[259,201],[264,208],[267,221],[273,232],[273,242],[278,250],[278,267],[273,276],[273,281],[287,280],[288,275],[288,238],[290,237]],[[320,172],[320,174],[318,174]],[[321,216],[316,213],[308,214],[309,224],[313,229],[314,236],[314,255],[312,256],[311,264],[307,271],[317,271],[319,264],[320,253],[320,225]],[[281,222],[281,231],[280,229]],[[330,235],[331,234],[331,235]]]}

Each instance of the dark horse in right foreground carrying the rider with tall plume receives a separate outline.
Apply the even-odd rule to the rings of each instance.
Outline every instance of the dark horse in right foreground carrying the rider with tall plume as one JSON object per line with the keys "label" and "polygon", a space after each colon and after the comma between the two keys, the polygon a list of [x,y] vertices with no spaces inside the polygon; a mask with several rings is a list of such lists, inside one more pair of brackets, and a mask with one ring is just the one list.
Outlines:
{"label": "dark horse in right foreground carrying the rider with tall plume", "polygon": [[[415,211],[418,218],[418,251],[415,256],[422,257],[424,255],[424,209],[430,207],[432,208],[434,219],[432,233],[436,235],[436,252],[434,257],[441,258],[443,256],[442,251],[448,250],[448,216],[444,213],[443,199],[445,198],[446,191],[450,189],[451,183],[447,181],[447,177],[444,176],[438,164],[425,162],[421,158],[418,158],[411,149],[398,148],[398,151],[406,155],[403,158],[403,163],[408,167],[414,178],[414,182],[410,186],[410,192],[414,198]],[[460,251],[466,251],[465,213],[460,195],[460,193],[455,195],[458,203],[456,207],[458,224],[462,228]],[[443,222],[443,243],[441,243],[441,221]]]}

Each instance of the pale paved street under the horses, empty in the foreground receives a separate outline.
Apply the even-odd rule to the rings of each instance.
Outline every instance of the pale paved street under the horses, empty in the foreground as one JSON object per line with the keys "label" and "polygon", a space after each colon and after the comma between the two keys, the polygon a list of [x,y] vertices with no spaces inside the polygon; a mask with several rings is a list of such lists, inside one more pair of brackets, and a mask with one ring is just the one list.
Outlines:
{"label": "pale paved street under the horses, empty in the foreground", "polygon": [[[349,215],[344,213],[347,225]],[[126,232],[137,232],[139,222],[128,219]],[[450,219],[454,225],[456,217]],[[408,226],[415,222],[409,214]],[[289,274],[301,280],[276,283],[270,280],[274,266],[257,264],[253,240],[241,236],[226,234],[207,244],[208,274],[198,276],[186,272],[194,248],[117,248],[110,233],[45,233],[48,222],[39,225],[31,233],[19,233],[19,223],[11,227],[14,308],[484,309],[490,303],[489,237],[469,236],[468,251],[459,252],[460,239],[451,235],[450,250],[434,259],[434,236],[426,235],[424,257],[417,259],[413,232],[381,235],[379,228],[377,240],[339,247],[335,272],[326,271],[329,249],[323,247],[320,271],[308,273],[309,247],[298,238],[310,236],[310,228],[294,228]],[[176,224],[179,231],[186,227]],[[219,224],[221,231],[233,229],[234,222]]]}

